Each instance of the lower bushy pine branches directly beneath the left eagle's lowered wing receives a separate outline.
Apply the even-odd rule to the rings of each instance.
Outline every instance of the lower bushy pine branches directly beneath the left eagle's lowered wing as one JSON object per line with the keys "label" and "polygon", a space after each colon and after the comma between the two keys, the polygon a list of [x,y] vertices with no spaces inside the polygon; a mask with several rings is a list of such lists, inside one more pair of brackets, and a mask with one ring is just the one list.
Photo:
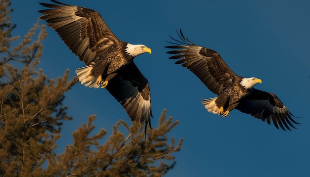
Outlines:
{"label": "lower bushy pine branches directly beneath the left eagle's lowered wing", "polygon": [[[176,162],[172,153],[180,151],[183,141],[181,139],[175,145],[171,138],[171,144],[168,144],[166,133],[178,122],[173,122],[171,117],[166,119],[165,112],[159,118],[158,128],[149,130],[147,139],[143,124],[134,122],[129,127],[120,120],[104,144],[98,142],[106,134],[104,129],[90,136],[96,118],[90,116],[88,123],[73,133],[74,143],[67,145],[63,154],[50,159],[47,172],[52,173],[48,175],[161,177],[174,167]],[[120,128],[126,129],[127,137]]]}

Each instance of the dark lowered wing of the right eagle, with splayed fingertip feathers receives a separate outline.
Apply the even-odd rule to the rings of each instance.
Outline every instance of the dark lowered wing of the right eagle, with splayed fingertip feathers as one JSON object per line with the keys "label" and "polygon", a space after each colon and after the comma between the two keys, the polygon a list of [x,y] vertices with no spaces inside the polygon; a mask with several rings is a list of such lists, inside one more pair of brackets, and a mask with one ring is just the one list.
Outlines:
{"label": "dark lowered wing of the right eagle, with splayed fingertip feathers", "polygon": [[295,116],[284,106],[275,94],[255,88],[252,88],[251,93],[240,100],[236,109],[246,114],[251,114],[262,121],[267,120],[268,124],[270,124],[272,120],[277,129],[279,129],[279,125],[284,131],[284,126],[288,130],[291,130],[290,127],[295,128],[291,122],[299,124],[293,120],[292,117]]}

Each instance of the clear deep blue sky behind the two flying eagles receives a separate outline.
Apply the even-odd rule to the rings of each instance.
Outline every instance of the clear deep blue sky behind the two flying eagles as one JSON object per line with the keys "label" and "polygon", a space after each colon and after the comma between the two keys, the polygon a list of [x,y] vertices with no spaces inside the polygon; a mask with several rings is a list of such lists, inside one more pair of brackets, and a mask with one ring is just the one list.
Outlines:
{"label": "clear deep blue sky behind the two flying eagles", "polygon": [[[44,9],[38,2],[12,1],[15,35],[24,36]],[[149,80],[156,127],[165,108],[179,121],[169,136],[184,138],[175,153],[177,164],[166,177],[308,177],[310,175],[310,1],[296,0],[63,0],[97,10],[120,39],[145,44],[152,54],[135,59]],[[40,21],[40,24],[46,24]],[[213,115],[202,99],[215,95],[189,70],[168,59],[164,46],[175,29],[194,44],[218,51],[230,68],[262,80],[255,88],[275,93],[297,117],[298,130],[277,130],[237,110],[228,117]],[[84,63],[47,28],[40,67],[49,78],[63,76]],[[64,105],[73,121],[65,122],[58,151],[72,142],[71,134],[96,114],[96,132],[109,133],[119,119],[130,119],[105,89],[77,84]],[[94,132],[94,133],[96,133]],[[107,138],[107,137],[106,137]],[[104,139],[103,139],[104,142]]]}

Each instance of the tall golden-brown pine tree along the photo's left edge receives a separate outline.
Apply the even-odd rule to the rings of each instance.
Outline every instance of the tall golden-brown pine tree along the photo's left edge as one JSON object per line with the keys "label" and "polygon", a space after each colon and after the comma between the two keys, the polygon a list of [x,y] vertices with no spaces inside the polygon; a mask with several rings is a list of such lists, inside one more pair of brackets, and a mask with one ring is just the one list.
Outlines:
{"label": "tall golden-brown pine tree along the photo's left edge", "polygon": [[71,119],[62,101],[77,79],[68,81],[65,71],[55,83],[41,69],[36,71],[47,35],[44,27],[35,24],[11,47],[20,37],[11,36],[16,25],[9,22],[10,2],[0,4],[0,174],[33,176],[54,155],[62,121]]}

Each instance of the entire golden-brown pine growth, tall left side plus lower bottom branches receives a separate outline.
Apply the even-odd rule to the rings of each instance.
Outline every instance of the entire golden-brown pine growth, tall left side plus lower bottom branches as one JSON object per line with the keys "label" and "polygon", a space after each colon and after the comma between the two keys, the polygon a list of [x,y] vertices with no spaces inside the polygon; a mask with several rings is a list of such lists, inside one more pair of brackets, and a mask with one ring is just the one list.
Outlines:
{"label": "entire golden-brown pine growth, tall left side plus lower bottom branches", "polygon": [[12,37],[16,25],[9,21],[10,1],[0,4],[0,176],[157,177],[174,167],[172,154],[183,140],[168,140],[166,134],[178,122],[166,119],[165,110],[147,136],[144,125],[119,121],[104,144],[99,140],[106,131],[91,135],[96,117],[89,116],[73,132],[74,142],[56,154],[62,124],[72,120],[62,105],[64,94],[78,80],[69,80],[68,70],[55,81],[37,69],[45,26],[35,24],[23,40]]}

